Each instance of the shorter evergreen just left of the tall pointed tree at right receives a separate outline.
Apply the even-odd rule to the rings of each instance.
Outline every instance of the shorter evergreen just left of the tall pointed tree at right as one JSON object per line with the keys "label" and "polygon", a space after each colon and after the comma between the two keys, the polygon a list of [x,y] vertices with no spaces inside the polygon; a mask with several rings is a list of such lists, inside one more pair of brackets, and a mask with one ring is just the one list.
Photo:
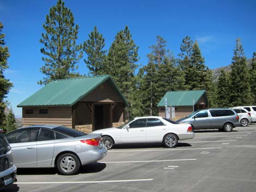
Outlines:
{"label": "shorter evergreen just left of the tall pointed tree at right", "polygon": [[230,106],[230,75],[228,72],[221,70],[221,75],[217,83],[217,106],[218,107],[232,107]]}

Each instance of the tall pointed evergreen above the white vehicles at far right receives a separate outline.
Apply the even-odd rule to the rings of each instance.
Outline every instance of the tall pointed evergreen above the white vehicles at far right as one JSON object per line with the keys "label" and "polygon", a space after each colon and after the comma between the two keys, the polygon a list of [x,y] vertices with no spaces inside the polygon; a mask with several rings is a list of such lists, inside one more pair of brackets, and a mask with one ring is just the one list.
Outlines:
{"label": "tall pointed evergreen above the white vehicles at far right", "polygon": [[251,89],[249,85],[246,57],[240,39],[236,40],[234,56],[231,63],[230,101],[233,106],[251,104]]}

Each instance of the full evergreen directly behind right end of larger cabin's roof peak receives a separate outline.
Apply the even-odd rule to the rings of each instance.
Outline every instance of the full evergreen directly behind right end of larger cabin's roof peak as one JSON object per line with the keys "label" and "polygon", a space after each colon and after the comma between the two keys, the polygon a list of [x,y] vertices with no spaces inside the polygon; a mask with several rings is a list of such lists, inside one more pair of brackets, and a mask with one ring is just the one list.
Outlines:
{"label": "full evergreen directly behind right end of larger cabin's roof peak", "polygon": [[[129,102],[135,86],[135,70],[138,66],[136,62],[139,60],[138,48],[126,26],[115,36],[107,55],[105,71],[113,77]],[[127,110],[127,117],[130,117],[129,110]]]}

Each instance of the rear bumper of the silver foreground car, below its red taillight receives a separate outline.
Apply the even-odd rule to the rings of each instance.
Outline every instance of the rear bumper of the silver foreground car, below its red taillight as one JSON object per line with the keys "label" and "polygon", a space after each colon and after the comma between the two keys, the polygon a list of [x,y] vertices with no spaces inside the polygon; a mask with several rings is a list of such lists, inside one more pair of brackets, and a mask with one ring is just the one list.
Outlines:
{"label": "rear bumper of the silver foreground car, below its red taillight", "polygon": [[99,150],[91,150],[82,153],[78,153],[77,156],[81,160],[82,165],[93,163],[96,160],[103,159],[107,155],[107,148],[104,146]]}

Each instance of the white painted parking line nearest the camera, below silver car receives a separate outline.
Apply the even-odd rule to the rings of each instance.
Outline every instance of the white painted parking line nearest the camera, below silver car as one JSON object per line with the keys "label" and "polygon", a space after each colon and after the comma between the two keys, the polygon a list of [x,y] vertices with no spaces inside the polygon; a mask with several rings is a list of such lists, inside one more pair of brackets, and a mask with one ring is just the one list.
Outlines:
{"label": "white painted parking line nearest the camera, below silver car", "polygon": [[154,178],[148,179],[130,179],[130,180],[109,180],[109,181],[68,181],[68,182],[16,182],[15,184],[72,184],[72,183],[116,183],[116,182],[136,182],[136,181],[153,181]]}

